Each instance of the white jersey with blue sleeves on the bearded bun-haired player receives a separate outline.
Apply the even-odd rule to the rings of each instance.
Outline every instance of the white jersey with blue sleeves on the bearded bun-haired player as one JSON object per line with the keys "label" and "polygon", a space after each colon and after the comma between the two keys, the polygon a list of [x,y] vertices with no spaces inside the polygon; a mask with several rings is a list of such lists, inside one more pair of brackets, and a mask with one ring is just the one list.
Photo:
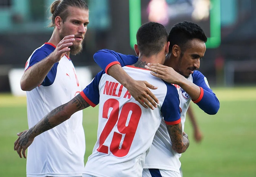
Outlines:
{"label": "white jersey with blue sleeves on the bearded bun-haired player", "polygon": [[[55,49],[45,43],[29,57],[25,70],[47,57]],[[75,97],[81,88],[74,66],[67,56],[55,63],[43,83],[27,91],[29,128],[47,113]],[[85,138],[82,111],[34,139],[28,148],[27,177],[81,176],[84,169]]]}

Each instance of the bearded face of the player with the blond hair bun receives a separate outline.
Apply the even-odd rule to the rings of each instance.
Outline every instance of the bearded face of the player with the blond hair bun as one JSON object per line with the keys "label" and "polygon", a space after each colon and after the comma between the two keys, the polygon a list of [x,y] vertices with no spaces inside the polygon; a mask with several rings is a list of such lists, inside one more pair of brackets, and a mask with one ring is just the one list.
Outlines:
{"label": "bearded face of the player with the blond hair bun", "polygon": [[84,35],[89,23],[89,11],[77,7],[68,7],[68,17],[60,29],[60,38],[75,35],[75,41],[70,46],[70,53],[76,55],[83,49]]}

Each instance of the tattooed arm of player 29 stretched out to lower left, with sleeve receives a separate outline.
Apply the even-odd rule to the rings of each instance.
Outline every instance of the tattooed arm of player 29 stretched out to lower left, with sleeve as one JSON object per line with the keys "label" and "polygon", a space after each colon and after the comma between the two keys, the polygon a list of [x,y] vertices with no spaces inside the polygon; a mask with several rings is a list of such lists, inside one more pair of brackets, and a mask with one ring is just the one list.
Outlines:
{"label": "tattooed arm of player 29 stretched out to lower left, with sleeve", "polygon": [[14,150],[18,152],[21,158],[21,150],[24,158],[26,158],[26,148],[33,142],[34,137],[69,119],[73,113],[87,108],[89,105],[95,107],[99,104],[99,82],[103,73],[104,72],[99,72],[91,83],[71,101],[55,108],[28,132],[23,132],[14,144]]}

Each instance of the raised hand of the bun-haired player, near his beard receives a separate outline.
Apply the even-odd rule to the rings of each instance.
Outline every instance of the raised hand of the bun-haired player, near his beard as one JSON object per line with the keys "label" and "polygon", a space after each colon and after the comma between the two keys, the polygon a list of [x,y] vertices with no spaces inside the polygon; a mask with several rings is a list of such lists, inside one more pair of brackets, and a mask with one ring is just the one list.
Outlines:
{"label": "raised hand of the bun-haired player, near his beard", "polygon": [[56,46],[56,49],[49,55],[54,63],[60,61],[60,59],[66,54],[66,52],[70,51],[69,46],[73,45],[75,41],[75,35],[65,36]]}

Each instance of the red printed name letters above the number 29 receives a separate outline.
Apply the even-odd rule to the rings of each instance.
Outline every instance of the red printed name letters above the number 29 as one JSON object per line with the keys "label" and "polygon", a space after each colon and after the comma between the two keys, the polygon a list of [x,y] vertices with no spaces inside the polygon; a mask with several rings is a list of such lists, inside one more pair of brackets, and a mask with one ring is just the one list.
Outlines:
{"label": "red printed name letters above the number 29", "polygon": [[105,82],[103,94],[115,97],[121,97],[123,95],[123,98],[131,98],[130,92],[128,90],[123,90],[123,85],[111,81]]}

